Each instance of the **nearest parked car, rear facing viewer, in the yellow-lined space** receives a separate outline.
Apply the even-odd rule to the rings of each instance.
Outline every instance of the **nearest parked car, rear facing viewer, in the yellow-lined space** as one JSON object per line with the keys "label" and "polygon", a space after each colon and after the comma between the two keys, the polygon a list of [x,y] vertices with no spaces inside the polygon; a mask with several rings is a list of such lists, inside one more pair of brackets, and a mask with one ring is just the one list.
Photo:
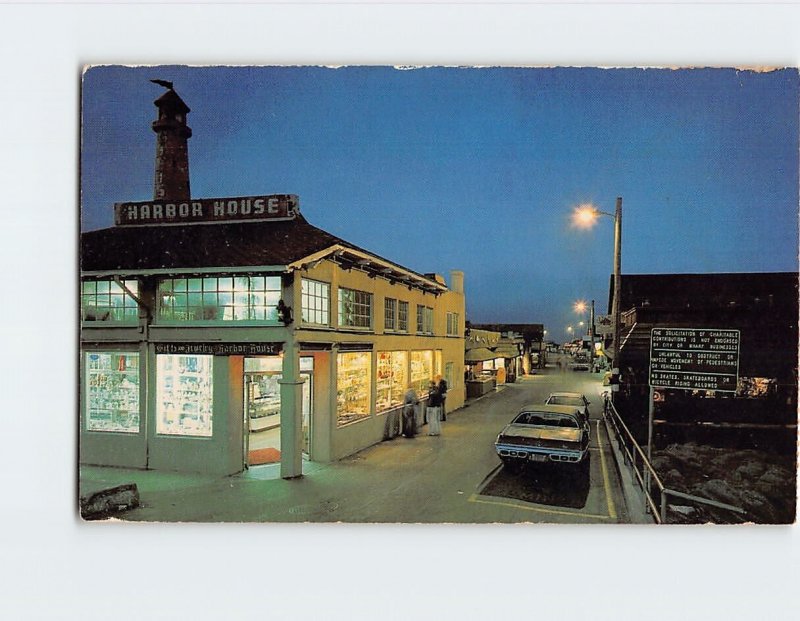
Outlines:
{"label": "nearest parked car, rear facing viewer, in the yellow-lined space", "polygon": [[588,466],[589,421],[568,405],[528,405],[498,434],[497,455],[511,469],[525,463]]}

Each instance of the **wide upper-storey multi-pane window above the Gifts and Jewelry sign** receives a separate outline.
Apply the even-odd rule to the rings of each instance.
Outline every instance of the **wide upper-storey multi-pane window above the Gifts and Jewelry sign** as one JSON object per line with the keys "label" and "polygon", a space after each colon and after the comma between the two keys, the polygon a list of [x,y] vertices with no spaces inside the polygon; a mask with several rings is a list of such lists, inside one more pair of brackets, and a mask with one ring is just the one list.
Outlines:
{"label": "wide upper-storey multi-pane window above the Gifts and Jewelry sign", "polygon": [[280,276],[164,278],[159,317],[167,321],[278,322]]}

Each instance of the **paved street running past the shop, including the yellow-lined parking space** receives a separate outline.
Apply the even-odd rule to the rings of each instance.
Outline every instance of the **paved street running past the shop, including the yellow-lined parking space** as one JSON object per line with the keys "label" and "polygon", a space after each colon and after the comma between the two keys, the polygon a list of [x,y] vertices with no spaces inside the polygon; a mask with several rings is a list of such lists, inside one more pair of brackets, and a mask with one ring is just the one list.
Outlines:
{"label": "paved street running past the shop, including the yellow-lined parking space", "polygon": [[[588,480],[558,468],[512,474],[493,442],[522,405],[556,390],[592,402]],[[302,479],[261,466],[227,478],[81,468],[81,493],[137,483],[142,506],[127,520],[404,523],[627,522],[608,437],[600,420],[598,376],[580,372],[521,378],[452,412],[443,434],[382,442],[333,464],[304,464]]]}

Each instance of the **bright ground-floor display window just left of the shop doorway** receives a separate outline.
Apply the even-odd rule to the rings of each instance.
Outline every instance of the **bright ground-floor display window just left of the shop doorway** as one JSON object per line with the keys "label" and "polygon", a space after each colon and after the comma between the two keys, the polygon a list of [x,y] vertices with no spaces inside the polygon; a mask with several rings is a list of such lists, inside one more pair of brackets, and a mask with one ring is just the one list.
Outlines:
{"label": "bright ground-floor display window just left of the shop doorway", "polygon": [[156,356],[156,433],[210,437],[213,356]]}

